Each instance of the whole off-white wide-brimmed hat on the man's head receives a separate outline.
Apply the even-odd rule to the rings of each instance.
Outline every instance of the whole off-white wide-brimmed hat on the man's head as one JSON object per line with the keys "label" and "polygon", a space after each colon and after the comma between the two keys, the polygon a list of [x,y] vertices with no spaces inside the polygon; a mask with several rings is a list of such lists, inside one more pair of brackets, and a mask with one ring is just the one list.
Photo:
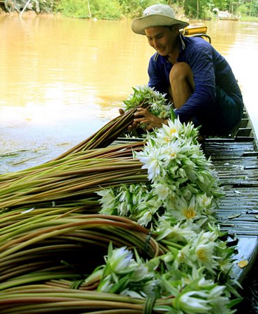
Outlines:
{"label": "whole off-white wide-brimmed hat on the man's head", "polygon": [[132,31],[141,35],[146,35],[144,29],[158,26],[179,25],[179,29],[184,29],[188,22],[175,19],[174,10],[165,4],[154,4],[144,10],[144,16],[132,21]]}

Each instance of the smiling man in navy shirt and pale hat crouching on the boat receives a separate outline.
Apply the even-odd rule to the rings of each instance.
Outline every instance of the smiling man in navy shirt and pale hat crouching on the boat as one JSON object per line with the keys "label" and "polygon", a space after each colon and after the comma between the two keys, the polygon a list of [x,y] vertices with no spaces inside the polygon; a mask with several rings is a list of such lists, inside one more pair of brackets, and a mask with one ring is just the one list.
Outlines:
{"label": "smiling man in navy shirt and pale hat crouching on the boat", "polygon": [[[176,20],[167,5],[155,4],[132,22],[156,52],[149,61],[149,86],[166,93],[181,122],[201,126],[202,135],[229,135],[243,115],[243,98],[229,63],[203,38],[185,37],[188,23]],[[147,130],[167,121],[138,108],[133,126]]]}

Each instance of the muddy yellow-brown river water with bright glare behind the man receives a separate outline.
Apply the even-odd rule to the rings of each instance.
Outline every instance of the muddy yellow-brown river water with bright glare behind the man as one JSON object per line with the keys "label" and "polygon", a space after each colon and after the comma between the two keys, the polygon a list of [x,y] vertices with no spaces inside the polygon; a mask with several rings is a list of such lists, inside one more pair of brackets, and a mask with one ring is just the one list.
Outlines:
{"label": "muddy yellow-brown river water with bright glare behind the man", "polygon": [[[258,24],[206,24],[234,69],[258,134]],[[132,87],[148,81],[153,54],[127,20],[0,15],[0,43],[0,154],[47,147],[46,159],[116,117]]]}

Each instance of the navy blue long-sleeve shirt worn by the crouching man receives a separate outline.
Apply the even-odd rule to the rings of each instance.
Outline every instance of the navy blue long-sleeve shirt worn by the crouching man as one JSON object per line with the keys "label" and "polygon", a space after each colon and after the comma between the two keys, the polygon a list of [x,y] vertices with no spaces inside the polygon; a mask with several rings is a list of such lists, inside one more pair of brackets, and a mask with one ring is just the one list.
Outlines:
{"label": "navy blue long-sleeve shirt worn by the crouching man", "polygon": [[[187,102],[178,110],[176,115],[181,122],[188,121],[193,117],[204,117],[213,112],[216,92],[215,87],[223,89],[236,102],[243,103],[241,91],[232,68],[222,55],[203,38],[181,38],[181,51],[178,61],[186,62],[192,69],[195,91]],[[169,87],[169,72],[172,63],[158,52],[153,54],[149,61],[149,86],[154,87],[160,93],[167,94]]]}

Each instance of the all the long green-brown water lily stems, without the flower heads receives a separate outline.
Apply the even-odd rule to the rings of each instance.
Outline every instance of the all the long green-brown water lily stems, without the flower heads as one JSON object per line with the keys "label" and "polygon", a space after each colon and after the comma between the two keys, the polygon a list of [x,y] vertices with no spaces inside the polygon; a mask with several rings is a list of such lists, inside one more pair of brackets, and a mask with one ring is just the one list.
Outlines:
{"label": "all the long green-brown water lily stems, without the flower heads", "polygon": [[149,230],[132,220],[91,214],[100,210],[97,190],[147,179],[142,163],[132,158],[132,149],[142,143],[105,148],[130,125],[135,110],[54,160],[1,175],[1,313],[142,313],[146,308],[142,300],[86,291],[98,281],[79,285],[103,264],[110,241],[137,248],[146,258],[162,253]]}

